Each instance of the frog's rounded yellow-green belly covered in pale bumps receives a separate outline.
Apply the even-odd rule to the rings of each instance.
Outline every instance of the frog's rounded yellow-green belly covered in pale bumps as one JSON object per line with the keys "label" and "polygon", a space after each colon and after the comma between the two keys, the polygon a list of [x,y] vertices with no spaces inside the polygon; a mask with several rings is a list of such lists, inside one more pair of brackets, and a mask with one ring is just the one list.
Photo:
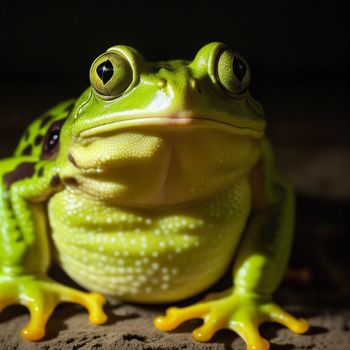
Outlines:
{"label": "frog's rounded yellow-green belly covered in pale bumps", "polygon": [[249,185],[207,203],[149,212],[65,190],[49,203],[63,269],[80,285],[123,300],[170,302],[203,291],[227,269],[250,210]]}

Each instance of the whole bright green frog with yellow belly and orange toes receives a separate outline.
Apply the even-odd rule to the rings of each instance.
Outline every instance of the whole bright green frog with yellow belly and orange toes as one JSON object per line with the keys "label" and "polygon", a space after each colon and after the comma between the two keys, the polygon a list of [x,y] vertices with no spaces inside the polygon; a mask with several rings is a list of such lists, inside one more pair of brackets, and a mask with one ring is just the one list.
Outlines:
{"label": "whole bright green frog with yellow belly and orange toes", "polygon": [[[247,349],[277,322],[304,333],[273,299],[291,251],[294,192],[275,167],[246,60],[224,43],[193,60],[148,62],[116,45],[90,68],[90,86],[35,119],[0,161],[0,310],[24,305],[21,335],[45,337],[59,303],[107,320],[105,296],[174,304],[226,271],[232,286],[154,319],[161,331],[199,318]],[[79,286],[48,275],[52,262]]]}

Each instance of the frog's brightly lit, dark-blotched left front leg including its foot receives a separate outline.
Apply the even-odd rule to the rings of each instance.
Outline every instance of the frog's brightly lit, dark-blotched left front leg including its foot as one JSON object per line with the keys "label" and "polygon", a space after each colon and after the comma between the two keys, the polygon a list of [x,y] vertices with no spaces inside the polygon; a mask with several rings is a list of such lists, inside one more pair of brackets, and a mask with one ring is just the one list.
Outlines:
{"label": "frog's brightly lit, dark-blotched left front leg including its foot", "polygon": [[102,295],[61,285],[46,275],[50,257],[42,202],[59,189],[56,169],[30,159],[0,165],[0,310],[12,304],[29,309],[30,323],[21,332],[28,340],[45,335],[47,320],[60,302],[81,304],[91,322],[105,322]]}

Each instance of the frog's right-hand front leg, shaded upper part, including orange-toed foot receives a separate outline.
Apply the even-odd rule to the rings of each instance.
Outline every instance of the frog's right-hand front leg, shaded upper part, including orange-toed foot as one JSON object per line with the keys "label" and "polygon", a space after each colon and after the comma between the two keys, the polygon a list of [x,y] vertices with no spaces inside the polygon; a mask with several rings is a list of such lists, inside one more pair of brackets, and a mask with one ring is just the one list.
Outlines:
{"label": "frog's right-hand front leg, shaded upper part, including orange-toed foot", "polygon": [[201,302],[170,308],[155,319],[161,330],[202,318],[204,324],[193,337],[208,341],[220,329],[232,329],[247,349],[265,350],[269,343],[259,334],[263,322],[277,322],[304,333],[308,323],[296,319],[272,301],[288,262],[292,244],[294,196],[289,184],[273,173],[271,153],[264,145],[263,157],[251,174],[254,212],[243,236],[233,271],[233,288],[209,295]]}

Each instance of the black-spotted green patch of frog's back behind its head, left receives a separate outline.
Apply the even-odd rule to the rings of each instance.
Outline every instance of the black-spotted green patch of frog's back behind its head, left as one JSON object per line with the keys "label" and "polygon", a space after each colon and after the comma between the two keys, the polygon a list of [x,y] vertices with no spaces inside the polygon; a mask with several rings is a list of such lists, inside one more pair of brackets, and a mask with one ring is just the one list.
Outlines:
{"label": "black-spotted green patch of frog's back behind its head, left", "polygon": [[40,158],[45,136],[53,123],[67,119],[72,111],[75,99],[61,102],[34,120],[24,131],[15,150],[15,157],[32,156]]}

